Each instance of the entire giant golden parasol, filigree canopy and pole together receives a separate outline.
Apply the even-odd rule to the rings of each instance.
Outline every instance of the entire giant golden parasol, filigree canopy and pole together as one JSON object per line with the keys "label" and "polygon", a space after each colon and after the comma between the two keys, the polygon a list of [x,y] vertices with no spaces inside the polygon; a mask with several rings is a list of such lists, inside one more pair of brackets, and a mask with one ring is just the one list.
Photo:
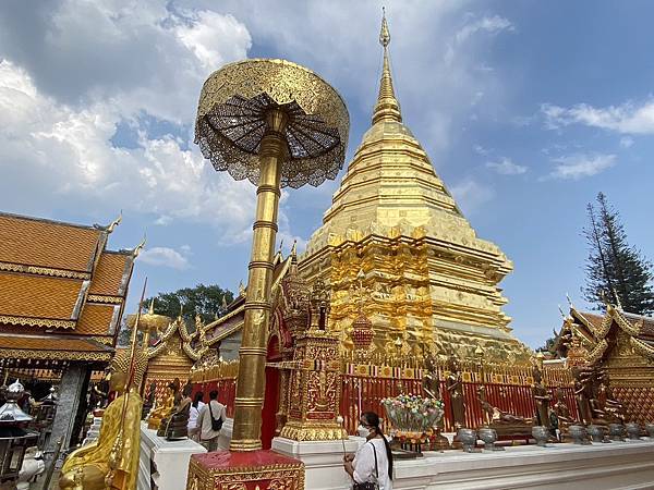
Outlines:
{"label": "entire giant golden parasol, filigree canopy and pole together", "polygon": [[289,61],[231,63],[213,73],[203,86],[195,143],[216,170],[257,185],[233,451],[262,448],[280,188],[317,186],[335,179],[344,161],[348,131],[348,110],[338,93],[312,71]]}

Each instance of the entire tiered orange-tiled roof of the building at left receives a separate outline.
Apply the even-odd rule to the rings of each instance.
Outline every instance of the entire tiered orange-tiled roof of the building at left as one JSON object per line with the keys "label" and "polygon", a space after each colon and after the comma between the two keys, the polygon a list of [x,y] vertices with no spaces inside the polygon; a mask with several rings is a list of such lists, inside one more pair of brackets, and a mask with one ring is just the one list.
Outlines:
{"label": "entire tiered orange-tiled roof of the building at left", "polygon": [[85,226],[0,213],[0,364],[111,359],[143,245],[106,248],[120,220]]}

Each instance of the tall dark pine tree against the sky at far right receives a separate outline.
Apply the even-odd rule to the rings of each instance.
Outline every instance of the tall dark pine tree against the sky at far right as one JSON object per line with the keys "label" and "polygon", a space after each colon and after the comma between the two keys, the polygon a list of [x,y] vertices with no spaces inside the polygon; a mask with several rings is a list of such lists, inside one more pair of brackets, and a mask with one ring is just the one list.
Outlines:
{"label": "tall dark pine tree against the sky at far right", "polygon": [[584,235],[590,254],[586,261],[585,298],[604,309],[604,299],[621,305],[625,311],[647,315],[654,311],[652,264],[629,246],[620,216],[603,193],[597,207],[588,205],[589,226]]}

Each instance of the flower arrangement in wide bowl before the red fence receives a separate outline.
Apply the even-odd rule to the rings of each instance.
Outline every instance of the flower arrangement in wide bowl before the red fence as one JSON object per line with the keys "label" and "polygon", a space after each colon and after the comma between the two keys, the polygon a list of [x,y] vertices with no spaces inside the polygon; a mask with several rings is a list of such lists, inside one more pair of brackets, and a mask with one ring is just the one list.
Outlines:
{"label": "flower arrangement in wide bowl before the red fence", "polygon": [[425,442],[434,436],[434,426],[445,413],[441,400],[420,395],[400,394],[382,400],[382,405],[392,426],[392,436],[401,442]]}

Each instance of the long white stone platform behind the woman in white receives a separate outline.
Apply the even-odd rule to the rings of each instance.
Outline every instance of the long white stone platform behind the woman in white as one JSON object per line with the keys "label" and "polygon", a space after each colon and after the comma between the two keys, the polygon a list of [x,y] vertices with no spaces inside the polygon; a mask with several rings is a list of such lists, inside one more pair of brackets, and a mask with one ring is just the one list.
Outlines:
{"label": "long white stone platform behind the woman in white", "polygon": [[[363,439],[351,437],[346,451]],[[342,465],[342,444],[296,442],[276,438],[276,451],[305,464],[306,489],[352,488]],[[506,451],[424,452],[423,457],[396,460],[393,490],[579,490],[654,488],[654,440],[576,445],[571,443],[508,446]]]}

